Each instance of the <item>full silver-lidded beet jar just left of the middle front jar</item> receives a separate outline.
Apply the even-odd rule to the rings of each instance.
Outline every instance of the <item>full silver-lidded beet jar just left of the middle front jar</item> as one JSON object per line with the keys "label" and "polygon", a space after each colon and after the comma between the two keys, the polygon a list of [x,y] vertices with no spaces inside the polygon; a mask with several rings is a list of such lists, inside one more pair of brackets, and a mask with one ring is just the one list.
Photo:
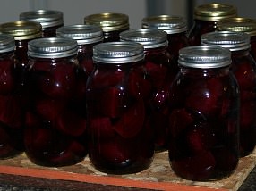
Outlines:
{"label": "full silver-lidded beet jar just left of the middle front jar", "polygon": [[87,154],[86,120],[76,102],[77,42],[40,38],[29,42],[26,75],[25,152],[42,166],[81,162]]}

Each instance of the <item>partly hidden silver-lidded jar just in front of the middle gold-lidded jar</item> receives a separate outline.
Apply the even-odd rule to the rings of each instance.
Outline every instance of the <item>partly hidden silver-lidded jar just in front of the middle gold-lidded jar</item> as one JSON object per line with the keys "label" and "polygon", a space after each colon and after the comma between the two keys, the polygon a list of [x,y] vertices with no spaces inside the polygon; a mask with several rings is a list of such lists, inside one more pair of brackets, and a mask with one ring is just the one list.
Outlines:
{"label": "partly hidden silver-lidded jar just in front of the middle gold-lidded jar", "polygon": [[87,75],[93,69],[92,47],[103,42],[103,32],[98,25],[68,25],[56,30],[57,37],[72,38],[77,41],[77,59]]}

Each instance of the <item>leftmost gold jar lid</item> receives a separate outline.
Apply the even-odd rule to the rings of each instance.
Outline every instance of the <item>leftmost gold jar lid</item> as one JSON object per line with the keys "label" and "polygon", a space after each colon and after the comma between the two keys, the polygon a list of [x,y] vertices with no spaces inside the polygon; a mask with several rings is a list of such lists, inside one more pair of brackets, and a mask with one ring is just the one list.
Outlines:
{"label": "leftmost gold jar lid", "polygon": [[0,25],[0,33],[12,35],[15,40],[42,37],[42,26],[34,21],[14,21]]}

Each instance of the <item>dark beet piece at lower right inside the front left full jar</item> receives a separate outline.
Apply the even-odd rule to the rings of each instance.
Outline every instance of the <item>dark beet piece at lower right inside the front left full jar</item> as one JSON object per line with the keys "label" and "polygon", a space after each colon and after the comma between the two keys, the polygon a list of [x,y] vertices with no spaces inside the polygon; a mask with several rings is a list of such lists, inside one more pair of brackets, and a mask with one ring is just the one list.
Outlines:
{"label": "dark beet piece at lower right inside the front left full jar", "polygon": [[56,129],[69,136],[81,136],[86,129],[86,120],[73,112],[64,111],[57,117]]}

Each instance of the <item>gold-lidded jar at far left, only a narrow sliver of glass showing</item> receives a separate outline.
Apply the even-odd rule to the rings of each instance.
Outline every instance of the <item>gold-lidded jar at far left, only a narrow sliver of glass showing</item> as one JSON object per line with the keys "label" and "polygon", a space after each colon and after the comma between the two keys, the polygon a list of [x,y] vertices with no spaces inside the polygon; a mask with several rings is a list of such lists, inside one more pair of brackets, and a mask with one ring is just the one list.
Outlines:
{"label": "gold-lidded jar at far left, only a narrow sliver of glass showing", "polygon": [[34,21],[6,22],[0,25],[0,33],[12,35],[15,39],[16,71],[22,85],[28,66],[28,42],[42,37],[42,26]]}

